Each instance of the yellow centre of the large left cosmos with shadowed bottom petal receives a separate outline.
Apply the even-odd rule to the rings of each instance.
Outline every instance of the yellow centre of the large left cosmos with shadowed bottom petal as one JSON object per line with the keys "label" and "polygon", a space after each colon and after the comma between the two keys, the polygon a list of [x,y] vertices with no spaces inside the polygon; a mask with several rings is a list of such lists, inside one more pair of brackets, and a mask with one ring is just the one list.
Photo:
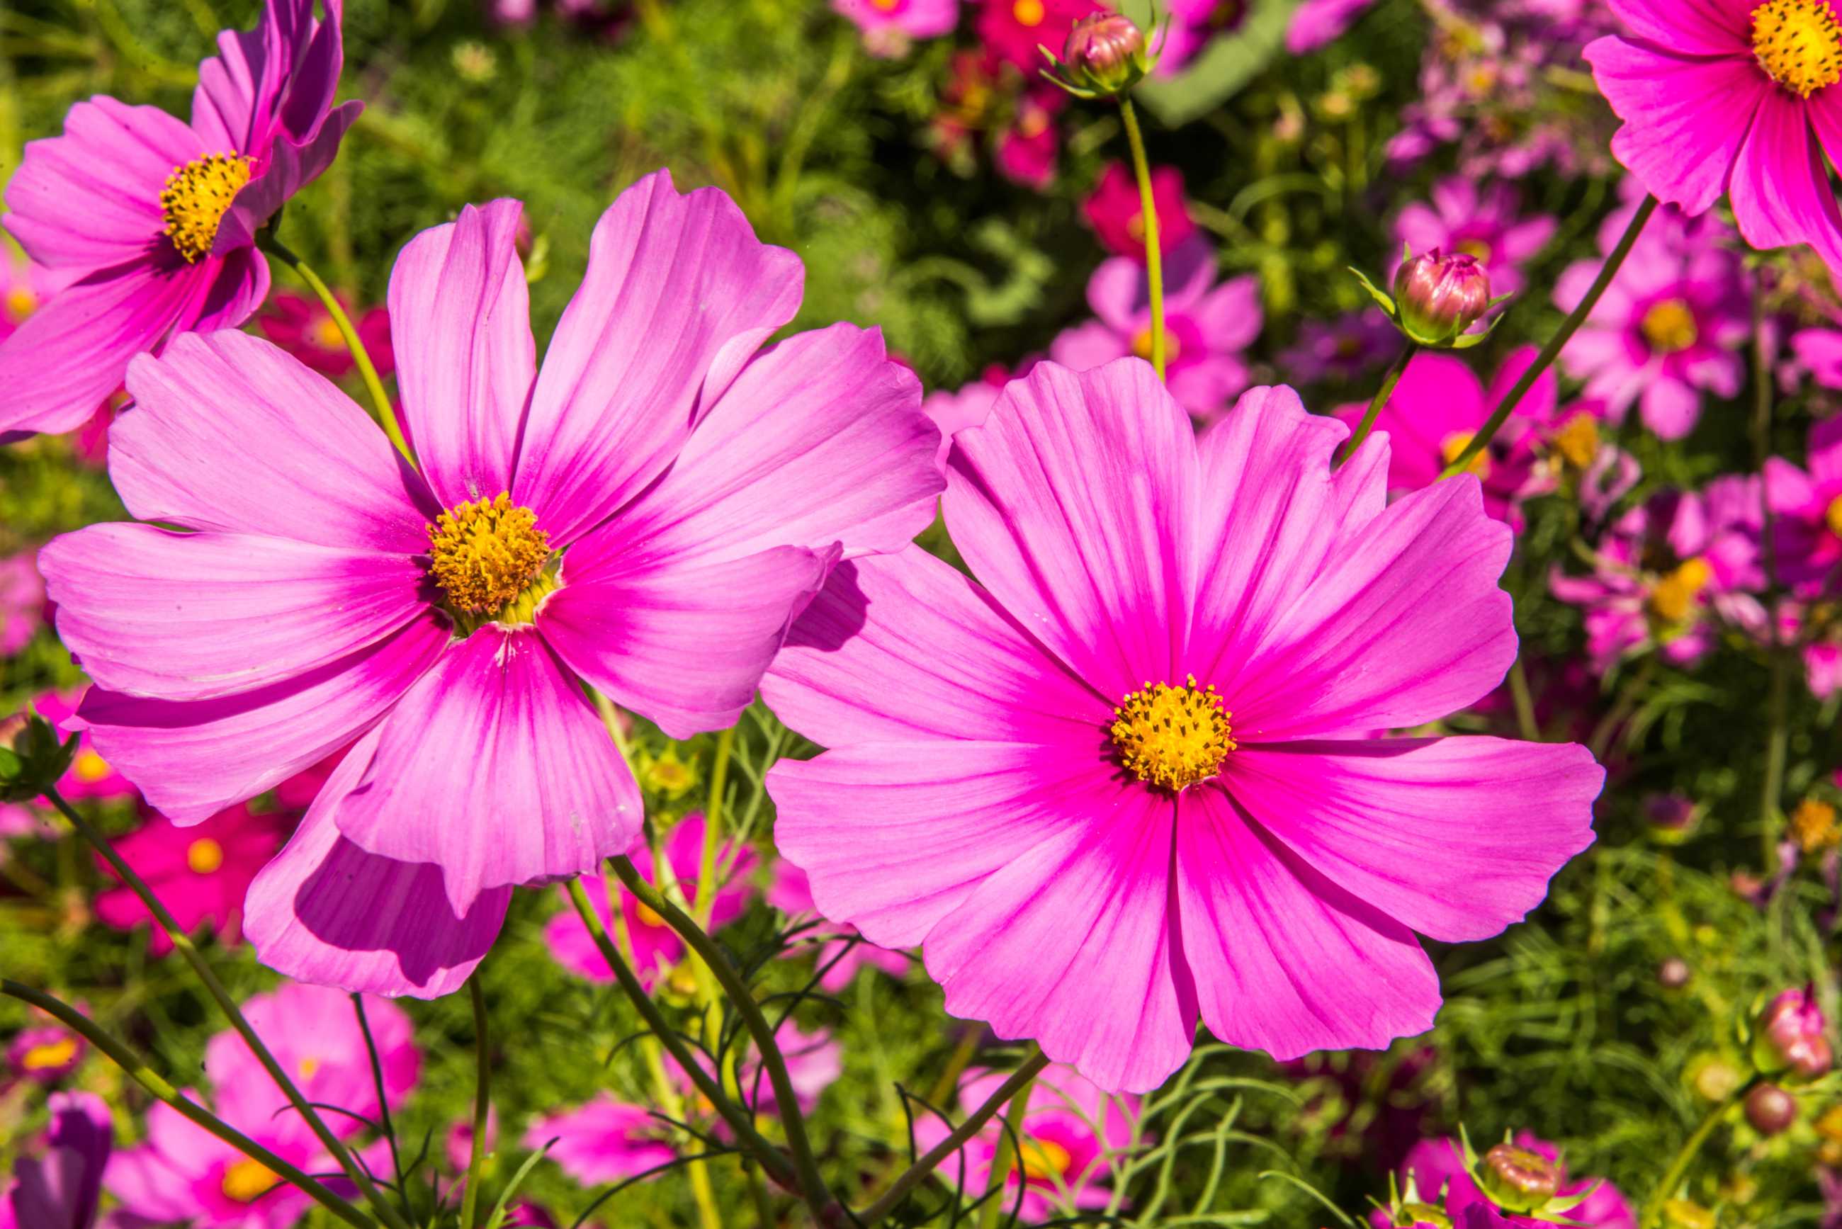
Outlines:
{"label": "yellow centre of the large left cosmos with shadowed bottom petal", "polygon": [[554,586],[545,575],[551,536],[538,516],[499,492],[462,503],[429,525],[429,575],[457,614],[530,623]]}

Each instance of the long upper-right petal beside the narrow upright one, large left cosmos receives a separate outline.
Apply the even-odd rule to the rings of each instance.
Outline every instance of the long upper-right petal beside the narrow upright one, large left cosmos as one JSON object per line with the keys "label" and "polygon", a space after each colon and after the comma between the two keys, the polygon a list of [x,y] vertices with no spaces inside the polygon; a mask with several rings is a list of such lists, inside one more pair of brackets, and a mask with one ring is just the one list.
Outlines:
{"label": "long upper-right petal beside the narrow upright one, large left cosmos", "polygon": [[595,225],[530,398],[512,497],[565,545],[670,464],[799,308],[805,273],[728,195],[641,179]]}

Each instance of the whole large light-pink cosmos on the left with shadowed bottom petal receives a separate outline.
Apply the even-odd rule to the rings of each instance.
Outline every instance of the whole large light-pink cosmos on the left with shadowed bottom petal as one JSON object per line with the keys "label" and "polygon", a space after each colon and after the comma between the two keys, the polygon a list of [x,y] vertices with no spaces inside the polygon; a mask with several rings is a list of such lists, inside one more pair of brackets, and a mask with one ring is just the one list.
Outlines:
{"label": "whole large light-pink cosmos on the left with shadowed bottom petal", "polygon": [[356,739],[245,910],[302,980],[459,986],[514,884],[639,833],[582,684],[674,737],[731,724],[827,568],[906,544],[943,485],[879,334],[757,354],[801,267],[724,193],[663,171],[624,192],[542,372],[519,212],[468,206],[396,262],[420,474],[273,345],[188,335],[129,370],[109,470],[131,512],[193,533],[92,525],[41,553],[99,684],[81,720],[175,824]]}

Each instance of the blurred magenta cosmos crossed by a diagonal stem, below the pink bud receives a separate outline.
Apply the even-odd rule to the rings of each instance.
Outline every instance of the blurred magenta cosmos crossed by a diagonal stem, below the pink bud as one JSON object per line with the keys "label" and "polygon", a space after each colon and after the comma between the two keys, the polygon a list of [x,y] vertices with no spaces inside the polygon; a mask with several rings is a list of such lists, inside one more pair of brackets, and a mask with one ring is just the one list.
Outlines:
{"label": "blurred magenta cosmos crossed by a diagonal stem, below the pink bud", "polygon": [[[1463,359],[1422,352],[1402,372],[1394,394],[1376,415],[1376,429],[1389,433],[1389,490],[1420,490],[1439,481],[1448,464],[1470,446],[1472,437],[1534,363],[1536,348],[1514,350],[1485,389]],[[1536,468],[1542,427],[1555,416],[1558,381],[1553,369],[1542,372],[1534,387],[1490,440],[1490,448],[1472,459],[1472,474],[1485,492],[1485,510],[1499,521],[1520,525],[1518,505],[1529,492]],[[1367,402],[1337,409],[1352,427],[1361,422]]]}

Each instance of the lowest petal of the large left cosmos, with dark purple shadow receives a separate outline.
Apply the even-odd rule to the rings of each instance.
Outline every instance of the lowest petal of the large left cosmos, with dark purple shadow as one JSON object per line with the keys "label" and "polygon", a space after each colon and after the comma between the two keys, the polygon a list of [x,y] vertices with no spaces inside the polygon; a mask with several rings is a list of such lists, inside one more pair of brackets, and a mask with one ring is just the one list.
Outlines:
{"label": "lowest petal of the large left cosmos, with dark purple shadow", "polygon": [[365,853],[339,809],[370,767],[374,732],[339,763],[293,840],[249,886],[243,932],[256,956],[302,982],[438,999],[460,989],[499,936],[510,888],[449,907],[442,870]]}

